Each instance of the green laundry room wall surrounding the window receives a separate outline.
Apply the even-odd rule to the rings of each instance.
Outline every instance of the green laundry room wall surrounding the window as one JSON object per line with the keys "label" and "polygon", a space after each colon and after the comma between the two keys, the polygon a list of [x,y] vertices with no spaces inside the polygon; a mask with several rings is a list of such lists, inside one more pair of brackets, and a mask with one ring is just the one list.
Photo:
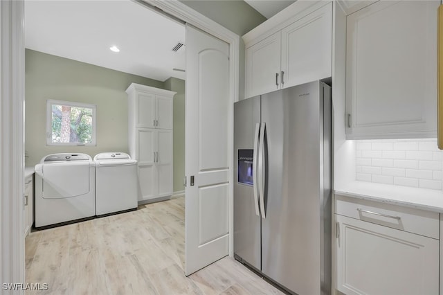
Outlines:
{"label": "green laundry room wall surrounding the window", "polygon": [[[164,89],[164,82],[105,69],[26,49],[25,53],[26,166],[35,166],[47,154],[128,152],[127,94],[136,82]],[[46,100],[86,102],[97,106],[96,146],[47,146]]]}

